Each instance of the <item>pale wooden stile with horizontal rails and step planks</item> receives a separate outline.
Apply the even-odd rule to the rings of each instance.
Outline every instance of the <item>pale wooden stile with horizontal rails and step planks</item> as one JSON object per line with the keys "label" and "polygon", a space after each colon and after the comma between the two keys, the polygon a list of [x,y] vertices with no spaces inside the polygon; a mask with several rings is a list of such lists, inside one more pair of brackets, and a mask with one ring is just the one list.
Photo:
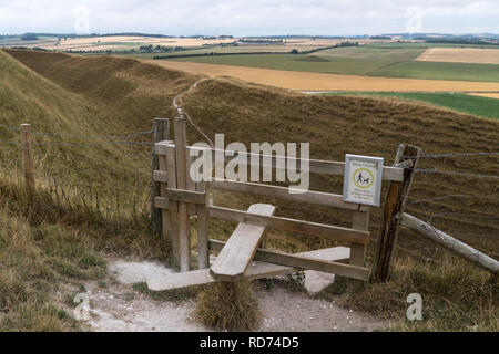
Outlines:
{"label": "pale wooden stile with horizontal rails and step planks", "polygon": [[[221,150],[187,146],[184,118],[174,119],[174,140],[156,142],[153,147],[159,169],[153,170],[152,176],[153,181],[161,186],[160,194],[153,196],[153,207],[162,210],[162,235],[171,241],[174,260],[182,273],[170,275],[169,280],[151,280],[152,290],[167,290],[214,281],[237,281],[242,277],[255,279],[296,270],[317,270],[361,281],[368,280],[366,249],[369,242],[370,207],[345,202],[342,195],[323,191],[291,194],[288,188],[282,186],[221,178],[194,183],[189,173],[194,162],[191,152],[213,154],[212,160],[215,160],[220,159],[221,155],[217,153]],[[255,162],[255,157],[263,168],[267,166],[275,169],[283,166],[279,159],[284,157],[240,152],[236,154],[248,157],[246,159],[248,167]],[[223,156],[223,163],[233,158],[231,154]],[[315,174],[342,176],[345,173],[345,163],[342,162],[296,158],[294,163],[297,168],[306,163],[309,171]],[[385,166],[383,176],[385,180],[401,181],[404,168]],[[352,228],[276,217],[273,215],[275,207],[271,205],[253,205],[248,210],[223,208],[208,202],[210,190],[267,196],[349,210],[353,212]],[[191,270],[189,217],[195,217],[197,223],[196,271]],[[226,243],[208,238],[210,218],[238,222]],[[349,248],[336,247],[297,254],[276,252],[265,248],[265,231],[268,228],[325,237],[346,242]],[[220,251],[213,264],[210,264],[210,250]]]}

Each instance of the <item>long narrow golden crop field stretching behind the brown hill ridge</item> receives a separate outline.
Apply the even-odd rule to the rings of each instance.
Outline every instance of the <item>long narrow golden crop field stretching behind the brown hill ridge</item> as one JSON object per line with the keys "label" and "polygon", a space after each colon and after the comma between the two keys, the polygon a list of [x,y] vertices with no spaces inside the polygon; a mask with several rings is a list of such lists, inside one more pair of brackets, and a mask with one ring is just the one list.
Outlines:
{"label": "long narrow golden crop field stretching behind the brown hill ridge", "polygon": [[499,92],[499,83],[493,82],[320,74],[163,60],[145,60],[145,62],[211,77],[232,76],[247,82],[297,91]]}

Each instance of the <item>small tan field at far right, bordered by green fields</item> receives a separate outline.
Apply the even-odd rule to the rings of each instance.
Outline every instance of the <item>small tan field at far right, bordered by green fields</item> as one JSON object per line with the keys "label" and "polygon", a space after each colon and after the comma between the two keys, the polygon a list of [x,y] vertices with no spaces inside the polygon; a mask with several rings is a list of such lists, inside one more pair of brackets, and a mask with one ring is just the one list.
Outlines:
{"label": "small tan field at far right, bordered by green fields", "polygon": [[499,64],[499,49],[430,48],[416,60],[426,62]]}

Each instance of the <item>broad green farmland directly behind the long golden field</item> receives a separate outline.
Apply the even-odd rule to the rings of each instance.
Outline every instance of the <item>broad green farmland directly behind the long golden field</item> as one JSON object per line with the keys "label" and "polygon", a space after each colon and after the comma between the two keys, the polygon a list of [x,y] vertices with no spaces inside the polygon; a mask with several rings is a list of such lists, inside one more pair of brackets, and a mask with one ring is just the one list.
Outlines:
{"label": "broad green farmland directly behind the long golden field", "polygon": [[310,73],[499,82],[499,65],[497,64],[416,61],[424,51],[425,49],[417,46],[391,49],[352,46],[318,51],[312,55],[242,54],[175,58],[169,60]]}

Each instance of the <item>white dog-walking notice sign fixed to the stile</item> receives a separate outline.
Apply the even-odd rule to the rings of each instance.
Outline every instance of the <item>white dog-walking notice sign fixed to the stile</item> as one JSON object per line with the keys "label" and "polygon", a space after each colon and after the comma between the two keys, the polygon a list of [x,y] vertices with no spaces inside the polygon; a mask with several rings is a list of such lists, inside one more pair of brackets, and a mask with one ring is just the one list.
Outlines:
{"label": "white dog-walking notice sign fixed to the stile", "polygon": [[379,207],[383,157],[345,155],[343,200]]}

